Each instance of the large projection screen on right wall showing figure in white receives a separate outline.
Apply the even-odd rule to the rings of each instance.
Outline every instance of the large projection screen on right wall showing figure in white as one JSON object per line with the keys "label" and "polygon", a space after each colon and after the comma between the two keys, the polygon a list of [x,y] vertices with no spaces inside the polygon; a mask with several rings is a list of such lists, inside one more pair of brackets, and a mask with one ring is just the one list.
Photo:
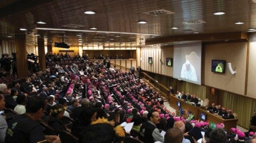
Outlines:
{"label": "large projection screen on right wall showing figure in white", "polygon": [[174,46],[174,78],[201,84],[202,43]]}

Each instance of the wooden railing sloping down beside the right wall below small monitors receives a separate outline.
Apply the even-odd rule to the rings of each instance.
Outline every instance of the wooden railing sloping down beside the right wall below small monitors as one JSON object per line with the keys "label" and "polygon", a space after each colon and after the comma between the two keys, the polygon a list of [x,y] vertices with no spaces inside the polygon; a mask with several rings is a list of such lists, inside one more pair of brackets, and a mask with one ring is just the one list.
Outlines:
{"label": "wooden railing sloping down beside the right wall below small monitors", "polygon": [[142,78],[145,81],[152,83],[155,89],[157,89],[163,96],[168,98],[169,91],[170,91],[168,88],[166,88],[163,84],[159,83],[156,79],[146,74],[145,72],[141,72],[141,73],[142,73]]}

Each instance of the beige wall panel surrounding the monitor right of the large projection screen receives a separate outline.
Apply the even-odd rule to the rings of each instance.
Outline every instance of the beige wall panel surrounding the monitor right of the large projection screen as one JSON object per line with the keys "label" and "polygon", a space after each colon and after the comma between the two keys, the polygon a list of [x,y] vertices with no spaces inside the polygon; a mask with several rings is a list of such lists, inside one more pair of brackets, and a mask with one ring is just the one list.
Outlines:
{"label": "beige wall panel surrounding the monitor right of the large projection screen", "polygon": [[[239,54],[238,54],[239,53]],[[205,85],[240,95],[245,91],[247,42],[205,45]],[[211,72],[211,60],[226,60],[236,68],[237,74],[231,75],[226,66],[225,74]]]}

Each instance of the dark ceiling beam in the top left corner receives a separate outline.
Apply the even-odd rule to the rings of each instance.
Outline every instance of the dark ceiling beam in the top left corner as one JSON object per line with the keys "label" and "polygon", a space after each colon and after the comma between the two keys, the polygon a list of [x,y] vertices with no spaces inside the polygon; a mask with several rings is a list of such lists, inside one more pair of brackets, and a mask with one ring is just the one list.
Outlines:
{"label": "dark ceiling beam in the top left corner", "polygon": [[[52,0],[53,1],[53,0]],[[51,0],[21,0],[0,9],[0,18],[19,12],[31,10],[37,6],[52,2]]]}

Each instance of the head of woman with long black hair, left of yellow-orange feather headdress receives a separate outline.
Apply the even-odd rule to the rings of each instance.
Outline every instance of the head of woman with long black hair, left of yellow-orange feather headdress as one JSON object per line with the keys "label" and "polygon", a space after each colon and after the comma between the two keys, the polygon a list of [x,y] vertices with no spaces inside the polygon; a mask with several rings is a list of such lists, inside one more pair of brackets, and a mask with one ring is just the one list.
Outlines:
{"label": "head of woman with long black hair, left of yellow-orange feather headdress", "polygon": [[74,122],[72,127],[72,134],[78,138],[82,138],[84,130],[92,123],[96,121],[97,112],[92,107],[86,107],[83,109],[80,117]]}

